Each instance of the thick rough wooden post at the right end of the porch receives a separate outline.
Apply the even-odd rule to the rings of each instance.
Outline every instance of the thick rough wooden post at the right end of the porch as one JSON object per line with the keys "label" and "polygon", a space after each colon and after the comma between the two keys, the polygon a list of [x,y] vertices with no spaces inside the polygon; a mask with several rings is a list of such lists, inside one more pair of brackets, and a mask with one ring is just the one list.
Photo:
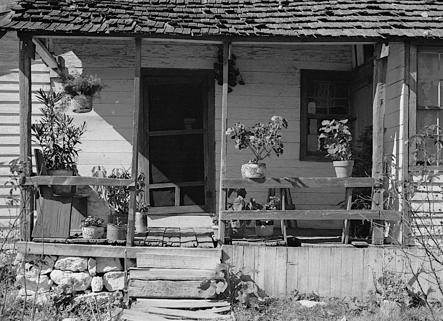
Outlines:
{"label": "thick rough wooden post at the right end of the porch", "polygon": [[[387,56],[382,55],[382,43],[376,45],[374,52],[374,103],[373,103],[373,145],[372,177],[382,179],[383,172],[383,138]],[[383,193],[375,190],[372,202],[373,210],[383,209]],[[384,221],[372,221],[372,244],[383,244]]]}

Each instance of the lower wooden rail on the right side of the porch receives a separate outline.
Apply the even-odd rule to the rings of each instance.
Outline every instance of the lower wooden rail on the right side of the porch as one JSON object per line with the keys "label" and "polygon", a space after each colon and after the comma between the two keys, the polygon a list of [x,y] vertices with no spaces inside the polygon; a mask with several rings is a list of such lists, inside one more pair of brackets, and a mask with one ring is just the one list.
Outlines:
{"label": "lower wooden rail on the right side of the porch", "polygon": [[400,220],[401,212],[388,210],[285,210],[285,211],[221,211],[222,220],[233,219],[382,219]]}

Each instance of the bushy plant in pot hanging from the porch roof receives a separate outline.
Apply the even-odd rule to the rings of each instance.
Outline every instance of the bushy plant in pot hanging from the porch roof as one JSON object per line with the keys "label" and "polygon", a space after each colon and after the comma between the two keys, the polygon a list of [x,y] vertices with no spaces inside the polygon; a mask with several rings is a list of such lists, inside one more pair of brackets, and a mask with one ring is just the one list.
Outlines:
{"label": "bushy plant in pot hanging from the porch roof", "polygon": [[62,79],[63,94],[70,100],[72,111],[89,112],[93,108],[93,99],[103,89],[97,75],[67,74]]}

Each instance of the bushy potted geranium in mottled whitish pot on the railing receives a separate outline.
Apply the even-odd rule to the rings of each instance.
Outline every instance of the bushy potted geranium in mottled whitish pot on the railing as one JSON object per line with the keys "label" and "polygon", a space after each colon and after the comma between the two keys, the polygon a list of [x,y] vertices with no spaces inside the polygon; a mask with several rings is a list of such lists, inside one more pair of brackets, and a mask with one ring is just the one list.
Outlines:
{"label": "bushy potted geranium in mottled whitish pot on the railing", "polygon": [[246,129],[244,124],[236,123],[226,131],[235,139],[235,148],[239,150],[250,148],[254,158],[242,165],[243,178],[265,178],[266,165],[259,163],[274,152],[277,157],[283,153],[282,135],[280,130],[287,128],[287,121],[281,116],[273,116],[268,124],[255,124]]}

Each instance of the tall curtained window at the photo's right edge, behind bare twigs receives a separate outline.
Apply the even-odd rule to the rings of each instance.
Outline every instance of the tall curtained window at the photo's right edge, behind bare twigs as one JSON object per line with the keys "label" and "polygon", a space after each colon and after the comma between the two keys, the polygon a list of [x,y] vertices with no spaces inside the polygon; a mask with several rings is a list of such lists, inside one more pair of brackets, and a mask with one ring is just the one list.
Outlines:
{"label": "tall curtained window at the photo's right edge, behind bare twigs", "polygon": [[[442,140],[443,133],[443,48],[419,47],[417,55],[417,130],[438,125],[435,138]],[[432,140],[425,142],[428,156],[434,154],[442,162],[442,150]],[[419,163],[420,160],[418,155]]]}

